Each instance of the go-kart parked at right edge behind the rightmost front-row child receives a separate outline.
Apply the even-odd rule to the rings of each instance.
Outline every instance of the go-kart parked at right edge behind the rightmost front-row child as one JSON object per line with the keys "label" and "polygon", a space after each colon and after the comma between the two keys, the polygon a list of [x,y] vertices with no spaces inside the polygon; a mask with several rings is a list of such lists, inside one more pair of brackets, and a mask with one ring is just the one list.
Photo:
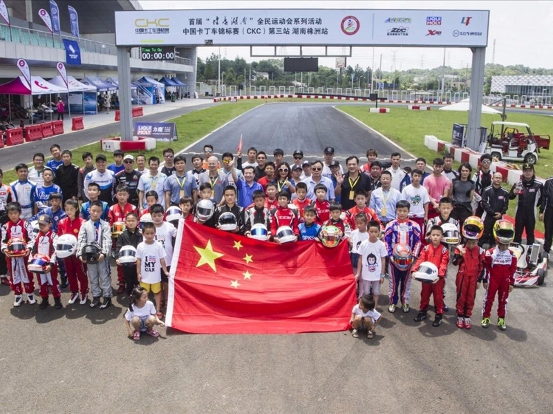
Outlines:
{"label": "go-kart parked at right edge behind the rightmost front-row child", "polygon": [[541,286],[547,273],[547,255],[540,252],[540,244],[531,246],[512,243],[509,246],[516,257],[514,286]]}

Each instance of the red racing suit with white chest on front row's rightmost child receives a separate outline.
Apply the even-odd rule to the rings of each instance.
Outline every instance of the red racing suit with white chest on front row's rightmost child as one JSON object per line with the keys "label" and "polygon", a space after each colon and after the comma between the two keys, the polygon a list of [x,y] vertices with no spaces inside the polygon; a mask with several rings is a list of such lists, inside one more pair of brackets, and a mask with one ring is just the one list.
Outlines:
{"label": "red racing suit with white chest on front row's rightmost child", "polygon": [[488,288],[484,295],[482,317],[489,317],[496,293],[498,294],[497,315],[505,317],[509,286],[514,286],[516,257],[509,249],[501,251],[498,247],[490,248],[484,256],[484,266],[486,269],[484,282],[488,284]]}

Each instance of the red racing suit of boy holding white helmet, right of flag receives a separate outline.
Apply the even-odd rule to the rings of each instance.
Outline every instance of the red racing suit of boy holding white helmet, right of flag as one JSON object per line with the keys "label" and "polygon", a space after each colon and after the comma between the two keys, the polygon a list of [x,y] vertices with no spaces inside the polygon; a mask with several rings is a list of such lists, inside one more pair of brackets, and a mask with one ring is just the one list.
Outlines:
{"label": "red racing suit of boy holding white helmet, right of flag", "polygon": [[444,313],[444,284],[447,264],[449,263],[449,249],[442,244],[434,247],[433,244],[427,244],[422,248],[419,259],[413,266],[413,272],[416,272],[422,262],[431,262],[438,268],[438,282],[423,283],[420,290],[420,311],[427,312],[430,303],[430,295],[434,297],[434,308],[436,315]]}

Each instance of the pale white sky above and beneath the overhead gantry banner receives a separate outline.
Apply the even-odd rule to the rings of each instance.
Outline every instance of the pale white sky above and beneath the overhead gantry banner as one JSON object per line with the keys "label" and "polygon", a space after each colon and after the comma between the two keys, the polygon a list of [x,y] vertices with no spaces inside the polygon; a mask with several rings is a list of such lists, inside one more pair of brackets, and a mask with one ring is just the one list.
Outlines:
{"label": "pale white sky above and beneath the overhead gantry banner", "polygon": [[[452,9],[489,10],[489,37],[486,63],[491,63],[494,40],[495,63],[502,65],[521,64],[530,68],[553,68],[553,1],[171,1],[140,0],[144,10],[149,9],[247,9],[247,8],[337,8],[341,9]],[[205,59],[218,53],[218,47],[198,48],[198,56]],[[277,49],[278,50],[278,49]],[[263,49],[256,49],[262,52]],[[375,68],[379,67],[382,55],[382,70],[436,68],[442,66],[442,48],[375,48]],[[246,61],[251,58],[250,48],[222,47],[221,55],[227,59],[236,56]],[[446,65],[453,68],[471,66],[472,54],[464,48],[446,50]],[[373,66],[373,48],[353,48],[348,65],[359,64],[363,68]],[[335,66],[335,59],[319,58],[319,64]]]}

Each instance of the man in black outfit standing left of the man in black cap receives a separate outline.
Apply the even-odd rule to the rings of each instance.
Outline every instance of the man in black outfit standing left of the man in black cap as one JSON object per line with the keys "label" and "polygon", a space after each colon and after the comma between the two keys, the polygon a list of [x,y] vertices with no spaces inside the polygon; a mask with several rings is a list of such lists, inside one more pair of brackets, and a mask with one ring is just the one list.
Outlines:
{"label": "man in black outfit standing left of the man in black cap", "polygon": [[503,175],[500,172],[496,172],[492,178],[493,184],[482,193],[484,234],[480,237],[478,246],[483,246],[485,243],[489,246],[496,244],[491,230],[494,228],[496,221],[503,217],[507,213],[507,208],[509,208],[509,193],[507,193],[505,188],[501,187],[502,180]]}

